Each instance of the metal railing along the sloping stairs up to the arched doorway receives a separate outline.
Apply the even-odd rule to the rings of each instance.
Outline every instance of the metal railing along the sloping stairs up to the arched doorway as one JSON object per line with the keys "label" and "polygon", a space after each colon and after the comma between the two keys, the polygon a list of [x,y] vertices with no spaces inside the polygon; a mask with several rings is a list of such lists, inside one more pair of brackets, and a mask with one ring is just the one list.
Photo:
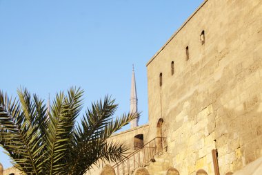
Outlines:
{"label": "metal railing along the sloping stairs up to the arched doorway", "polygon": [[150,161],[154,162],[154,156],[163,154],[167,147],[166,138],[154,138],[115,164],[114,170],[117,175],[130,175],[137,168],[145,167]]}

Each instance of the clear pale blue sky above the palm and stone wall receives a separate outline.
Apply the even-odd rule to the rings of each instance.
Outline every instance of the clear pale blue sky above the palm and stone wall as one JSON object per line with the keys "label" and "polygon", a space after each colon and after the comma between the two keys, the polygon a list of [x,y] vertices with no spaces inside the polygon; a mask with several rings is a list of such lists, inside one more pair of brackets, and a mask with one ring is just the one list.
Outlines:
{"label": "clear pale blue sky above the palm and stone wall", "polygon": [[[132,64],[139,125],[148,122],[145,64],[203,0],[0,0],[0,89],[51,99],[81,86],[85,107],[112,95],[129,111]],[[125,129],[128,129],[125,127]],[[12,166],[0,148],[3,167]]]}

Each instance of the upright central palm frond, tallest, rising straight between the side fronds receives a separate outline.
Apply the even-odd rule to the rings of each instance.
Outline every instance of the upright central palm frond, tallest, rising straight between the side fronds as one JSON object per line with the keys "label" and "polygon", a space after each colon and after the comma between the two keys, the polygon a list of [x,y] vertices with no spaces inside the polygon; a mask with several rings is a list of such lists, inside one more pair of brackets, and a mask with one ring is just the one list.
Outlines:
{"label": "upright central palm frond, tallest, rising straight between the side fronds", "polygon": [[47,137],[46,169],[49,169],[50,175],[63,174],[63,168],[67,165],[66,150],[70,147],[74,120],[82,108],[82,95],[83,91],[76,88],[71,88],[67,96],[64,93],[56,95],[50,114]]}

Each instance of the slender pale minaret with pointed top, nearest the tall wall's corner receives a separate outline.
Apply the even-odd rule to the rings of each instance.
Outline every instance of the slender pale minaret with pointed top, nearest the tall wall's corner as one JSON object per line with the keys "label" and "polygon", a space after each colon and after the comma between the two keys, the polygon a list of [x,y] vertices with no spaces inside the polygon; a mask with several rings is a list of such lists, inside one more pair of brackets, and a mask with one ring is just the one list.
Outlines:
{"label": "slender pale minaret with pointed top, nearest the tall wall's corner", "polygon": [[[136,87],[136,77],[134,76],[134,64],[133,64],[132,80],[131,80],[130,113],[137,113],[137,87]],[[138,124],[139,124],[139,118],[135,118],[130,122],[131,128],[137,127]]]}

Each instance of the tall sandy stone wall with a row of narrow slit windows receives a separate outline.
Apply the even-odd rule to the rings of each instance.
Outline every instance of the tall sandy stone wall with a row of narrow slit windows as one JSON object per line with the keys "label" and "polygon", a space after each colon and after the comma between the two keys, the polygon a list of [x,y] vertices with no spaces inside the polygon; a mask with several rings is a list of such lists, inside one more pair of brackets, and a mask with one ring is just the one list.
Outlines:
{"label": "tall sandy stone wall with a row of narrow slit windows", "polygon": [[221,174],[262,156],[261,0],[205,1],[147,68],[148,139],[162,118],[181,175],[214,174],[212,149]]}

